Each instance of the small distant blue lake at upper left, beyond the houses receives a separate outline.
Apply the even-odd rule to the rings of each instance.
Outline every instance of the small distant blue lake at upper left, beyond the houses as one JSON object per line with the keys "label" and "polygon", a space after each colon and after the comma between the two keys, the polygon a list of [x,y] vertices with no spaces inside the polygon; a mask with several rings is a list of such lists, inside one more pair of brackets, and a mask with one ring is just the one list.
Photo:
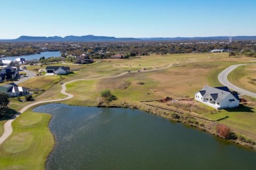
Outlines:
{"label": "small distant blue lake at upper left, beyond the houses", "polygon": [[33,54],[28,56],[13,56],[13,57],[6,57],[6,58],[0,58],[0,59],[9,59],[14,61],[16,58],[25,58],[25,59],[40,59],[41,57],[45,56],[45,58],[51,58],[51,57],[60,57],[60,52],[41,52],[41,54]]}

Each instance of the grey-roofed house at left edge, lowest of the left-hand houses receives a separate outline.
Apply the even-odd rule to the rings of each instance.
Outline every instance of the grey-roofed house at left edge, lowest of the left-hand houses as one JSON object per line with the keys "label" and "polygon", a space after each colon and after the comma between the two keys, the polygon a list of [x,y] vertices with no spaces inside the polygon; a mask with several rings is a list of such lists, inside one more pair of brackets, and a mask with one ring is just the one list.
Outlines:
{"label": "grey-roofed house at left edge, lowest of the left-hand houses", "polygon": [[3,86],[0,86],[0,92],[7,93],[10,97],[16,97],[19,95],[26,95],[28,94],[28,88],[19,87],[15,83],[5,84]]}

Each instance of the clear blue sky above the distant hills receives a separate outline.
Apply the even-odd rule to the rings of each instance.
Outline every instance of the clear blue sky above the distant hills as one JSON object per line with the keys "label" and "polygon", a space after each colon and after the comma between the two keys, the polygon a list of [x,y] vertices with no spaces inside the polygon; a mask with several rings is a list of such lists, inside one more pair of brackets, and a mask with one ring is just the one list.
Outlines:
{"label": "clear blue sky above the distant hills", "polygon": [[256,35],[255,7],[255,0],[0,0],[0,39]]}

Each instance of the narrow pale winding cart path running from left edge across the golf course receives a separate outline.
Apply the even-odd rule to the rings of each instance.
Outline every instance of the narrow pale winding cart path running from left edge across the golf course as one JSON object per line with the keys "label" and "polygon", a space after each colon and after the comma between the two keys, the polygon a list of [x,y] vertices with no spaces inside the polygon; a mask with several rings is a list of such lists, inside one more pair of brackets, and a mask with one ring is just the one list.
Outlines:
{"label": "narrow pale winding cart path running from left edge across the golf course", "polygon": [[[173,65],[173,64],[171,64],[171,65]],[[171,67],[171,65],[169,65],[167,67],[164,67],[164,68],[161,68],[161,69],[146,70],[146,71],[142,71],[142,72],[159,71],[159,70],[167,69],[167,68]],[[133,72],[133,73],[137,73],[137,72]],[[60,91],[60,93],[62,93],[64,95],[68,95],[68,97],[66,97],[64,99],[38,101],[38,102],[32,103],[30,105],[27,105],[26,107],[22,108],[19,112],[20,112],[20,114],[22,114],[23,112],[25,112],[27,109],[29,109],[30,107],[32,107],[34,105],[38,105],[38,104],[42,104],[42,103],[49,103],[49,102],[56,102],[56,101],[64,101],[64,100],[67,100],[67,99],[71,99],[72,97],[74,97],[74,95],[66,92],[66,84],[68,84],[70,82],[75,82],[75,81],[78,81],[78,80],[96,80],[96,79],[102,79],[102,78],[113,78],[113,77],[122,76],[122,75],[125,75],[125,74],[131,74],[131,73],[126,72],[126,73],[121,73],[120,75],[116,75],[116,76],[104,76],[104,77],[98,77],[98,78],[85,78],[85,79],[71,80],[69,82],[66,82],[66,83],[62,84],[62,90]],[[8,120],[5,123],[5,126],[4,126],[5,132],[0,137],[0,144],[2,144],[12,134],[12,122],[14,120],[16,120],[16,118],[18,118],[18,116],[20,116],[20,114],[13,116],[11,118],[11,120]]]}

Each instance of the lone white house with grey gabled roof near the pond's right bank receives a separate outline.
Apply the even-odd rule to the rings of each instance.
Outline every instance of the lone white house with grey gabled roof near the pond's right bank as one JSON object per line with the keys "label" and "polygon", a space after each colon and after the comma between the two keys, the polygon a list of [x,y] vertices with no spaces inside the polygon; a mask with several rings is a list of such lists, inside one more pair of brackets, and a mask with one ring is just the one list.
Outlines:
{"label": "lone white house with grey gabled roof near the pond's right bank", "polygon": [[204,86],[195,93],[195,99],[215,109],[238,107],[240,101],[238,94],[230,92],[226,86],[216,88]]}

